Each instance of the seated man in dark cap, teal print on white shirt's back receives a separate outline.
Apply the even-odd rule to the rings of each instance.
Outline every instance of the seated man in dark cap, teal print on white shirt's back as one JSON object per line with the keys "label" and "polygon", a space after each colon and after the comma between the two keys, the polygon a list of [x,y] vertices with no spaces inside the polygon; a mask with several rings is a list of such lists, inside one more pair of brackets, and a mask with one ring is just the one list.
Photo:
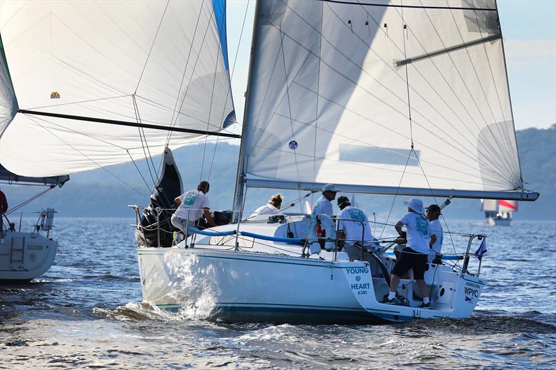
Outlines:
{"label": "seated man in dark cap, teal print on white shirt's back", "polygon": [[[351,260],[359,260],[361,258],[361,243],[366,249],[375,249],[376,239],[370,232],[369,220],[366,213],[361,208],[352,207],[350,199],[347,196],[338,198],[338,207],[340,212],[336,215],[338,221],[338,230],[343,230],[345,234],[344,251],[349,255]],[[357,220],[357,221],[350,221]],[[355,246],[355,244],[359,246]],[[368,258],[368,253],[363,253],[363,260]]]}

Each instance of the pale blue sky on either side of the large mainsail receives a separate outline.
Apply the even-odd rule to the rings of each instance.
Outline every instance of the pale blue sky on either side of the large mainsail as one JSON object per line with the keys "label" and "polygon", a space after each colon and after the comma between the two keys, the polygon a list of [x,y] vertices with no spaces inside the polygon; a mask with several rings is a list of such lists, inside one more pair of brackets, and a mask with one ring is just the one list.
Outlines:
{"label": "pale blue sky on either side of the large mainsail", "polygon": [[[254,0],[227,3],[229,65],[238,121],[243,119],[254,8]],[[498,13],[516,130],[548,128],[556,123],[556,0],[498,0]],[[234,131],[240,133],[240,125],[235,126]]]}

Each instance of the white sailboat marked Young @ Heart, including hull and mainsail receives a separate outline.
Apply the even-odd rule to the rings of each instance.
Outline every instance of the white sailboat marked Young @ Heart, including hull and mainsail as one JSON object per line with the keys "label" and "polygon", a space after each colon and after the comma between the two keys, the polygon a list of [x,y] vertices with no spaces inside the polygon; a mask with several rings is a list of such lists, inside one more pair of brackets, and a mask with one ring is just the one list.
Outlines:
{"label": "white sailboat marked Young @ Heart, including hull and mainsail", "polygon": [[[537,198],[523,189],[494,1],[259,1],[255,17],[236,210],[250,187],[325,183]],[[387,247],[370,261],[350,260],[334,237],[329,251],[308,251],[311,221],[247,220],[190,229],[174,248],[140,248],[143,297],[175,310],[208,305],[212,319],[293,323],[462,318],[477,305],[486,282],[480,262],[473,272],[469,263],[484,235],[427,265],[427,310],[411,279],[400,285],[409,306],[380,303],[394,264]]]}

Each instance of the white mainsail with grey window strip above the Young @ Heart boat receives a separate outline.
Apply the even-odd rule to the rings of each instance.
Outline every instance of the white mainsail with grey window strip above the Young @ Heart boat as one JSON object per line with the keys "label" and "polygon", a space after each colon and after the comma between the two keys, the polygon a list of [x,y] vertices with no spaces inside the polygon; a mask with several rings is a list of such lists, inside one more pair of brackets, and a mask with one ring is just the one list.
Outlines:
{"label": "white mainsail with grey window strip above the Young @ Heart boat", "polygon": [[253,52],[247,185],[523,188],[495,1],[261,1]]}

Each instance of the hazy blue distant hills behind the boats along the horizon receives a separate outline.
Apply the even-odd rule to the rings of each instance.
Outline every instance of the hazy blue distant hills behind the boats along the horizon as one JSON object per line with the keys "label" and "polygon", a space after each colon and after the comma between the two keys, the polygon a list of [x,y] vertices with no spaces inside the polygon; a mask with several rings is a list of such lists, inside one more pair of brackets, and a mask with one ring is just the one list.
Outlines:
{"label": "hazy blue distant hills behind the boats along the horizon", "polygon": [[[534,203],[521,203],[515,218],[556,219],[556,125],[546,130],[529,128],[517,131],[517,140],[523,178],[528,182],[528,189],[541,192],[541,197]],[[218,145],[209,143],[206,149],[203,144],[197,144],[175,151],[174,157],[179,165],[185,190],[193,189],[200,179],[208,178],[211,181],[211,208],[231,208],[238,151],[238,146],[227,142],[220,142]],[[159,159],[154,158],[156,166],[158,162]],[[126,205],[146,205],[152,187],[146,161],[140,162],[139,166],[145,179],[131,164],[74,174],[61,189],[52,190],[27,205],[25,210],[49,206],[60,212],[59,217],[133,217],[133,212]],[[149,187],[145,185],[145,181]],[[8,196],[10,206],[43,190],[42,187],[17,185],[3,185],[2,189]],[[245,210],[254,210],[273,193],[272,190],[250,189]],[[303,194],[292,191],[282,193],[286,196],[286,201],[297,199]],[[377,220],[385,220],[392,207],[391,219],[403,212],[404,197],[398,198],[394,204],[393,196],[357,194],[356,198],[371,217],[376,212]],[[425,203],[432,203],[432,200],[425,199]],[[298,211],[300,208],[293,210]],[[477,200],[455,199],[444,214],[452,219],[482,219],[480,202]]]}

